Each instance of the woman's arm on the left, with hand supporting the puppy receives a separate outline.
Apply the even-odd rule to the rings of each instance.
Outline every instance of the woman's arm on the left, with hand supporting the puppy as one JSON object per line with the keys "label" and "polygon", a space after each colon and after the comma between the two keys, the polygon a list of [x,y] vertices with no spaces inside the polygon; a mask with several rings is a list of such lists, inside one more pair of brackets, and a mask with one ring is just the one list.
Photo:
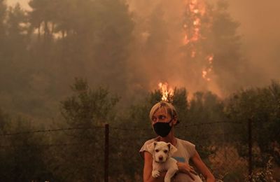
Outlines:
{"label": "woman's arm on the left, with hand supporting the puppy", "polygon": [[165,180],[166,172],[161,172],[158,178],[152,176],[153,171],[153,156],[151,153],[144,151],[144,172],[143,181],[144,182],[163,182]]}

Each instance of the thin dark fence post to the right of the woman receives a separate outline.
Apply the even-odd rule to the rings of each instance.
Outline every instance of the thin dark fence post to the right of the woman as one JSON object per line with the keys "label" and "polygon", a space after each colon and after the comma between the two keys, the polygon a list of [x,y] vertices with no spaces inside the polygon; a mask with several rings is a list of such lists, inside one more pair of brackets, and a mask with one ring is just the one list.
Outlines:
{"label": "thin dark fence post to the right of the woman", "polygon": [[252,182],[252,119],[248,119],[248,181]]}

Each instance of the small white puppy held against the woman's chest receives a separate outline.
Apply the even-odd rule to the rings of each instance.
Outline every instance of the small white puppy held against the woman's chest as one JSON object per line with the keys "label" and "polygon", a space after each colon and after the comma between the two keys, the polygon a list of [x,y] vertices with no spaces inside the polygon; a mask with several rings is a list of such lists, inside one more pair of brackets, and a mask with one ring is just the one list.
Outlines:
{"label": "small white puppy held against the woman's chest", "polygon": [[148,144],[148,151],[153,154],[153,172],[152,176],[158,178],[160,172],[167,171],[165,182],[170,182],[172,176],[178,172],[177,161],[171,158],[172,154],[177,151],[177,148],[170,143],[164,141],[154,141]]}

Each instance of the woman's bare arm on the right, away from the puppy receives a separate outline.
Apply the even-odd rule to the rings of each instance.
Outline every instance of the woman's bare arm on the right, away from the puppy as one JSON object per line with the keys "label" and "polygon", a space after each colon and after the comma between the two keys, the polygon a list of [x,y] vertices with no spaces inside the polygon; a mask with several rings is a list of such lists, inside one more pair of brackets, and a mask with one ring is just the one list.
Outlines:
{"label": "woman's bare arm on the right, away from the puppy", "polygon": [[193,160],[195,167],[197,167],[197,169],[200,170],[200,172],[202,173],[204,178],[207,180],[207,182],[215,181],[213,174],[211,174],[208,167],[204,164],[204,162],[200,158],[200,155],[197,153],[197,151],[195,151],[195,155],[193,155],[193,158],[191,158],[191,159]]}

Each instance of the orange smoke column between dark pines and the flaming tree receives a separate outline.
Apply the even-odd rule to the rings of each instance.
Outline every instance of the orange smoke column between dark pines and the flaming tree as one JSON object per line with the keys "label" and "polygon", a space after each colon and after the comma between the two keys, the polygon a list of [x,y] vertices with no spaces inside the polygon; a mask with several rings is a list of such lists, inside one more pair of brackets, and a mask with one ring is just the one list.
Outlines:
{"label": "orange smoke column between dark pines and the flaming tree", "polygon": [[128,1],[134,15],[136,48],[132,50],[130,66],[132,92],[142,88],[154,90],[158,83],[186,87],[188,92],[211,90],[223,96],[212,74],[211,82],[202,79],[204,57],[197,63],[186,59],[183,50],[183,15],[186,1]]}

